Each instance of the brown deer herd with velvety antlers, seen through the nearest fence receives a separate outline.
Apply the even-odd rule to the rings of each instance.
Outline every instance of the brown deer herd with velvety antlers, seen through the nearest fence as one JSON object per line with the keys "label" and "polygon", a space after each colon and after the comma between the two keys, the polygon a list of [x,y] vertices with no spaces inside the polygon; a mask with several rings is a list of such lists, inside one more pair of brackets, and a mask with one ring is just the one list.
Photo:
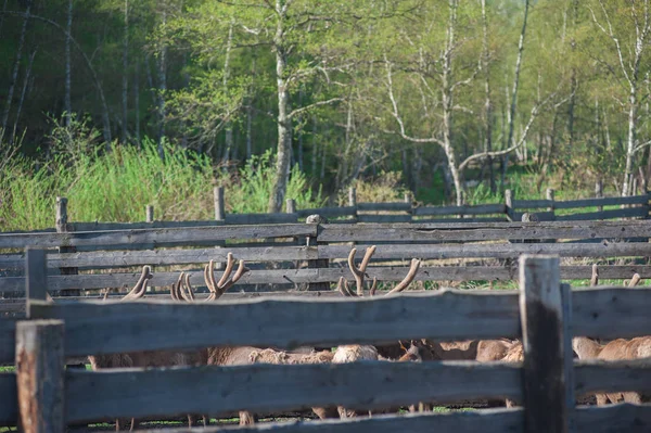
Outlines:
{"label": "brown deer herd with velvety antlers, seen through the nearest fence", "polygon": [[[360,297],[365,296],[365,276],[369,262],[375,252],[375,246],[366,250],[363,258],[359,266],[355,264],[356,249],[353,249],[348,255],[348,267],[355,279],[356,290],[353,291],[350,284],[345,278],[341,278],[337,284],[337,291],[344,296]],[[412,259],[409,271],[405,279],[396,286],[386,292],[394,294],[404,291],[414,279],[419,268],[420,260]],[[232,254],[228,254],[226,270],[219,281],[215,278],[214,260],[210,260],[204,268],[204,280],[209,290],[209,295],[199,301],[195,298],[194,290],[190,284],[190,275],[181,272],[178,281],[171,285],[170,295],[177,302],[215,302],[231,288],[238,280],[248,271],[244,260],[240,260],[237,270],[235,260]],[[592,272],[592,285],[599,281],[598,269],[595,266]],[[144,296],[146,281],[152,278],[151,268],[144,266],[142,275],[137,284],[127,293],[122,301],[133,301]],[[629,282],[629,286],[639,281],[636,273]],[[373,279],[370,290],[370,296],[375,295],[378,282]],[[601,344],[588,338],[573,339],[574,356],[579,359],[637,359],[651,357],[651,336],[638,338],[633,340],[618,339],[605,344]],[[297,365],[297,364],[344,364],[358,360],[385,360],[385,361],[435,361],[435,360],[477,360],[482,362],[489,361],[509,361],[516,362],[524,360],[523,345],[520,341],[507,339],[464,341],[464,342],[435,342],[427,339],[412,340],[410,342],[398,341],[388,345],[342,345],[333,351],[317,351],[311,347],[303,347],[293,352],[283,352],[273,347],[208,347],[199,352],[137,352],[128,354],[91,356],[90,364],[93,369],[103,368],[125,368],[125,367],[171,367],[171,366],[239,366],[256,362],[276,364],[276,365]],[[642,396],[637,393],[612,393],[599,394],[596,396],[599,405],[608,402],[617,403],[625,400],[627,403],[641,403]],[[507,407],[514,405],[514,402],[507,400]],[[429,410],[430,405],[421,403],[418,410]],[[410,411],[416,411],[417,407],[411,406]],[[323,407],[312,408],[312,411],[320,418],[349,418],[357,413],[343,407]],[[208,423],[206,416],[201,416],[203,423]],[[189,415],[188,422],[192,426],[196,423],[199,416]],[[241,411],[240,424],[252,424],[256,422],[255,415]],[[116,429],[122,430],[126,420],[117,420]],[[130,430],[137,425],[136,420],[130,420]]]}

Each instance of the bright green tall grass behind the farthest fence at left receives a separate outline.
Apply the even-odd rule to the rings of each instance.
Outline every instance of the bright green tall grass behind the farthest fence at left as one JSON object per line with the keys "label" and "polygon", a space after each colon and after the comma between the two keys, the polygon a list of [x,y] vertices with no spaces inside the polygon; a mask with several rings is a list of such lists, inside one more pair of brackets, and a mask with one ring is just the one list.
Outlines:
{"label": "bright green tall grass behind the farthest fence at left", "polygon": [[[217,181],[227,188],[227,212],[266,212],[272,170],[267,153],[238,176],[219,175]],[[54,227],[58,195],[68,198],[71,221],[142,221],[148,204],[154,205],[156,219],[210,219],[213,182],[208,157],[166,143],[161,158],[151,140],[142,149],[115,147],[107,154],[97,149],[74,157],[59,153],[40,167],[17,157],[0,173],[0,231]],[[288,198],[296,199],[299,208],[322,203],[297,169],[292,170]]]}

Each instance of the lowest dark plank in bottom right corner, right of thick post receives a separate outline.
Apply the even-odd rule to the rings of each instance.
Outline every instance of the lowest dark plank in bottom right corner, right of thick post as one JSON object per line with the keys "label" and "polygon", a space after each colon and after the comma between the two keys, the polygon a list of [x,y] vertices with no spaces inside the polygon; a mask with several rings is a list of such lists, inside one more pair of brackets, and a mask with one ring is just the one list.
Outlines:
{"label": "lowest dark plank in bottom right corner, right of thick post", "polygon": [[576,410],[576,433],[648,433],[651,406],[609,405]]}

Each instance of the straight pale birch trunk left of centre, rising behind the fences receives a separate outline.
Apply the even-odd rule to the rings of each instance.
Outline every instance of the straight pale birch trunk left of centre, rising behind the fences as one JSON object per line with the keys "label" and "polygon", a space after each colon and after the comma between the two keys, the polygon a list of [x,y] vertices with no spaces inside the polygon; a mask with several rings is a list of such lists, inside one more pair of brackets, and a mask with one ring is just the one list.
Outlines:
{"label": "straight pale birch trunk left of centre, rising behind the fences", "polygon": [[292,148],[292,125],[290,114],[290,92],[285,78],[288,67],[288,52],[285,47],[284,18],[285,0],[276,0],[278,22],[273,47],[276,49],[276,82],[278,89],[278,151],[276,153],[276,176],[269,196],[268,212],[281,212],[290,175],[290,158]]}

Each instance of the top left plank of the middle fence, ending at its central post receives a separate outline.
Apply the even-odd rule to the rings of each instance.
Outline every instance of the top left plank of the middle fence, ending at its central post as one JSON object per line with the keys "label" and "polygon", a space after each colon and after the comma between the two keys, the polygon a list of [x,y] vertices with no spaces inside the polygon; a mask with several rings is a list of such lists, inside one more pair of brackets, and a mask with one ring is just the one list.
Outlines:
{"label": "top left plank of the middle fence, ending at its central post", "polygon": [[230,239],[290,238],[316,234],[317,227],[305,224],[221,226],[152,230],[86,231],[72,233],[0,234],[0,249],[33,246],[115,245],[129,243],[213,242]]}

